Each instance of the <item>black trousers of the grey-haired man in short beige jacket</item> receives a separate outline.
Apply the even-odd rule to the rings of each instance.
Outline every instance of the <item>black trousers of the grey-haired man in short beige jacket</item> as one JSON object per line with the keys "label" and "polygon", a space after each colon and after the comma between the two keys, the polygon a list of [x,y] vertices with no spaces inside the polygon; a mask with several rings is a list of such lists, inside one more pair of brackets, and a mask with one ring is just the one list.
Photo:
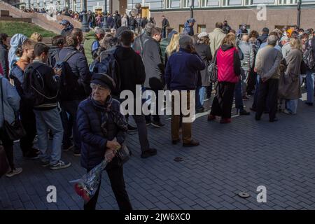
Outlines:
{"label": "black trousers of the grey-haired man in short beige jacket", "polygon": [[[278,79],[269,79],[262,82],[261,78],[259,80],[259,90],[257,99],[257,109],[256,109],[256,119],[260,119],[262,113],[267,107],[269,109],[269,120],[274,120],[276,118],[276,109],[278,103]],[[266,105],[267,104],[267,105]]]}

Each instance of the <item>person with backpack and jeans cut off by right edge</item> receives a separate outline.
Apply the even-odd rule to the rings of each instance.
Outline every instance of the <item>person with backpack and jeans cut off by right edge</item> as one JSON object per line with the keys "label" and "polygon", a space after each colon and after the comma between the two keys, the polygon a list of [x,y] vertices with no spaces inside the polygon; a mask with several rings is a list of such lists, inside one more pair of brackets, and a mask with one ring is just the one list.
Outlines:
{"label": "person with backpack and jeans cut off by right edge", "polygon": [[315,80],[315,36],[314,32],[311,34],[311,38],[305,44],[305,51],[303,53],[303,60],[307,66],[307,101],[305,104],[313,106],[314,102],[314,80]]}

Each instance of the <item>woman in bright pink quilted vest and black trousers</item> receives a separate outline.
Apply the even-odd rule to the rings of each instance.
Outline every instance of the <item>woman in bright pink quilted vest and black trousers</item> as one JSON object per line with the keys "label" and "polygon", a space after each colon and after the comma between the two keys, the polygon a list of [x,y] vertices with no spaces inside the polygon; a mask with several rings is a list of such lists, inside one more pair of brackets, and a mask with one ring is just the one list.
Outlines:
{"label": "woman in bright pink quilted vest and black trousers", "polygon": [[230,123],[235,83],[239,81],[241,74],[241,61],[233,34],[225,36],[214,55],[215,58],[218,66],[218,85],[208,120],[221,116],[220,123]]}

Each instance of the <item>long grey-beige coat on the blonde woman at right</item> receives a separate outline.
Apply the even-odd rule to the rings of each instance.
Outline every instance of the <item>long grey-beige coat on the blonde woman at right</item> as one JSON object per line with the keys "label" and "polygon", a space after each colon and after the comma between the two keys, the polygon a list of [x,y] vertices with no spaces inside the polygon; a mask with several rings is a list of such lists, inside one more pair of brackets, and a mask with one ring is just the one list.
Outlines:
{"label": "long grey-beige coat on the blonde woman at right", "polygon": [[286,71],[279,80],[279,97],[282,99],[299,99],[301,97],[300,73],[302,51],[292,48],[286,57]]}

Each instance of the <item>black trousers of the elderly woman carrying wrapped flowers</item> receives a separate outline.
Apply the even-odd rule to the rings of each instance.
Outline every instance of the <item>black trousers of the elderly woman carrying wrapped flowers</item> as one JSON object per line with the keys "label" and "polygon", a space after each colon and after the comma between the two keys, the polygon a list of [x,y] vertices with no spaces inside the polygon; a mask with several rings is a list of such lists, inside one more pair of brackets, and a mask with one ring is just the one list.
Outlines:
{"label": "black trousers of the elderly woman carrying wrapped flowers", "polygon": [[[115,160],[115,158],[114,158]],[[87,169],[89,172],[90,169]],[[109,175],[109,181],[111,181],[111,189],[116,197],[116,201],[120,210],[132,210],[132,205],[125,187],[125,180],[123,174],[123,166],[111,167],[111,169],[106,169]],[[84,205],[84,210],[95,210],[97,199],[99,197],[99,189],[101,188],[101,182],[99,183],[99,188],[97,192],[92,197],[92,199]]]}

